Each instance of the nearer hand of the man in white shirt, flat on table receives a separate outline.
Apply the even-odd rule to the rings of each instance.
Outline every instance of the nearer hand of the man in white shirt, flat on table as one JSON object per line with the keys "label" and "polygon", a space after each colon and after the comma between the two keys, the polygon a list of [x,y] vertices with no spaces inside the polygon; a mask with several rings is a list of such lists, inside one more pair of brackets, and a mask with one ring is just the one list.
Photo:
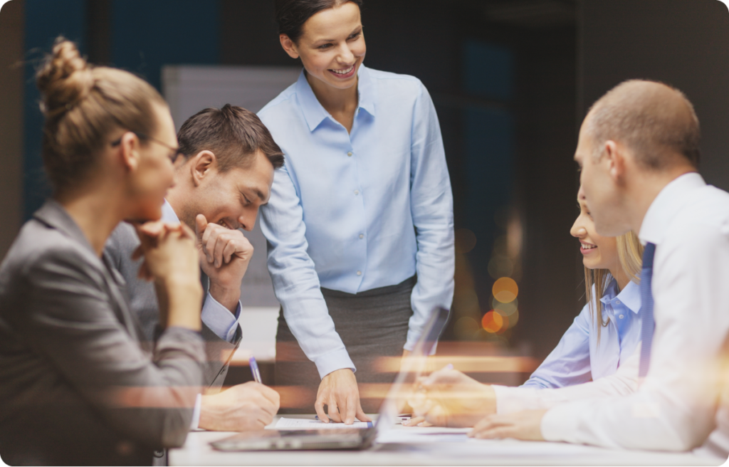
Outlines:
{"label": "nearer hand of the man in white shirt, flat on table", "polygon": [[468,433],[469,438],[514,438],[544,441],[542,418],[547,410],[524,410],[511,414],[488,415]]}

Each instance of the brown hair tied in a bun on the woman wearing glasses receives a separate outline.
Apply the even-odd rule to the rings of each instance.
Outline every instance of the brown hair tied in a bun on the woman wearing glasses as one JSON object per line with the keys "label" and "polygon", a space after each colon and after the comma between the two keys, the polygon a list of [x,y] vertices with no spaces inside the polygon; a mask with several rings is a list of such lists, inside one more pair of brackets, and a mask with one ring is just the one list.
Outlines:
{"label": "brown hair tied in a bun on the woman wearing glasses", "polygon": [[127,71],[94,67],[63,37],[36,74],[45,116],[42,156],[56,195],[82,184],[114,130],[152,135],[152,106],[166,106],[154,87]]}

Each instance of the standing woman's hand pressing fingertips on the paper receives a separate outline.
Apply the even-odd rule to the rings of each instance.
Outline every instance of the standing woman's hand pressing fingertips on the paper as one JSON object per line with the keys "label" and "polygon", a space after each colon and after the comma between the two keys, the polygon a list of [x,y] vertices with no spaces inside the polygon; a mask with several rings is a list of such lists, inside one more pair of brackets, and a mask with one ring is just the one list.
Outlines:
{"label": "standing woman's hand pressing fingertips on the paper", "polygon": [[[328,417],[324,413],[325,405],[329,412]],[[319,420],[324,423],[329,423],[331,419],[336,423],[351,425],[355,417],[361,422],[372,421],[364,415],[362,404],[359,403],[357,380],[354,372],[348,368],[335,370],[321,379],[314,409]]]}

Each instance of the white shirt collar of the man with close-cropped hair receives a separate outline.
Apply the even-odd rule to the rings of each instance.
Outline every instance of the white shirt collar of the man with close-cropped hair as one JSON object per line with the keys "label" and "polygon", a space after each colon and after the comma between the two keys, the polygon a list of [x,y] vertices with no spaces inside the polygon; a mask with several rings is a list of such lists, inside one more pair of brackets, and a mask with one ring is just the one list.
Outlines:
{"label": "white shirt collar of the man with close-cropped hair", "polygon": [[695,172],[685,173],[674,181],[671,181],[666,187],[663,187],[650,204],[648,211],[645,213],[643,223],[640,227],[641,243],[655,243],[660,245],[663,241],[663,235],[666,227],[679,211],[679,206],[687,199],[687,194],[695,189],[705,187],[706,182],[703,181],[701,175]]}

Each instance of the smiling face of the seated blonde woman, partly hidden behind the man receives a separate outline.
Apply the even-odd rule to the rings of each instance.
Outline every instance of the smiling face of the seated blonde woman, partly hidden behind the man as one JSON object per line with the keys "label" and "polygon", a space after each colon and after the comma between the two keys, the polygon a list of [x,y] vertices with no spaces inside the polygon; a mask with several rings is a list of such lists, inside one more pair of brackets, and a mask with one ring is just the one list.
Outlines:
{"label": "smiling face of the seated blonde woman, partly hidden behind the man", "polygon": [[598,235],[581,188],[577,194],[577,204],[580,205],[580,216],[577,216],[569,233],[580,240],[582,264],[588,269],[612,270],[619,261],[615,237]]}

